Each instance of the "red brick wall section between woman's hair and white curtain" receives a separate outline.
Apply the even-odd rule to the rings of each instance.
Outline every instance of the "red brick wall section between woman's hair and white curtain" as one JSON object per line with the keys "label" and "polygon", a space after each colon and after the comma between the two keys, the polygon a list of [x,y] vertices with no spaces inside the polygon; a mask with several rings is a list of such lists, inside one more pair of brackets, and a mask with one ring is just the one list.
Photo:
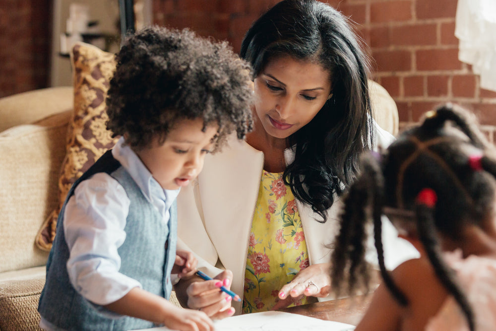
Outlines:
{"label": "red brick wall section between woman's hair and white curtain", "polygon": [[[338,1],[329,1],[338,2]],[[402,124],[446,101],[459,103],[496,125],[496,92],[480,88],[470,65],[458,61],[455,0],[345,0],[370,46],[375,79],[398,105]]]}

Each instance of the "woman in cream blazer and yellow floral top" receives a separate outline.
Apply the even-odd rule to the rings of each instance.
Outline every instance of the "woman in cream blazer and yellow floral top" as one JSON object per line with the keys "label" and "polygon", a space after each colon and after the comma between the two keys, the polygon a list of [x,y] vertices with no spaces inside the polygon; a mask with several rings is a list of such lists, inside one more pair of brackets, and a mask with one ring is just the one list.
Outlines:
{"label": "woman in cream blazer and yellow floral top", "polygon": [[372,120],[367,57],[331,6],[279,2],[248,30],[241,57],[253,67],[254,130],[206,160],[178,198],[179,237],[217,275],[178,290],[214,318],[231,306],[221,285],[244,313],[327,297],[338,196],[359,155],[393,139]]}

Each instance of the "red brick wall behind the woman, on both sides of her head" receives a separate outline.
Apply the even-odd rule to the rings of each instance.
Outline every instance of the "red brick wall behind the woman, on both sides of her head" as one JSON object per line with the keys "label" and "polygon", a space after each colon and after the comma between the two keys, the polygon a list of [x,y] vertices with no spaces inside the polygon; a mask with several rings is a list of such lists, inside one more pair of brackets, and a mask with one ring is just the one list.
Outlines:
{"label": "red brick wall behind the woman, on both sides of her head", "polygon": [[[227,39],[235,51],[251,22],[278,0],[154,0],[157,24]],[[401,125],[442,102],[473,110],[492,137],[496,92],[483,90],[458,61],[456,0],[322,0],[357,23],[370,46],[374,78],[398,105]]]}

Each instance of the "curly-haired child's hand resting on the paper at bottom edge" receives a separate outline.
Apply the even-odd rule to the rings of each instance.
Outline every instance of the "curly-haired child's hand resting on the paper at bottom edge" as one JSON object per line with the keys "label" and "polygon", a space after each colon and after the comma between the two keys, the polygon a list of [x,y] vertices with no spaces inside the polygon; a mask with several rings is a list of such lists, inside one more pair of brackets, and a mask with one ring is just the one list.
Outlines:
{"label": "curly-haired child's hand resting on the paper at bottom edge", "polygon": [[213,331],[212,320],[199,310],[174,307],[162,322],[167,328],[180,331]]}

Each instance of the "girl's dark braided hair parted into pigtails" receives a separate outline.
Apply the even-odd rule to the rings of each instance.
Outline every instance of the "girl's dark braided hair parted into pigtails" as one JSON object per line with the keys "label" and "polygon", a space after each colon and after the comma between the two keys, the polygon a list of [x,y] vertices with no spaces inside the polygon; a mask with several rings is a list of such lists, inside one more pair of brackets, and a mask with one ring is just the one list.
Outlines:
{"label": "girl's dark braided hair parted into pigtails", "polygon": [[[482,157],[481,169],[471,165],[474,155]],[[434,206],[417,199],[426,188],[435,192]],[[465,226],[482,227],[494,212],[495,196],[495,149],[479,130],[475,117],[452,104],[428,112],[423,123],[403,132],[379,162],[370,154],[364,155],[362,173],[346,194],[341,229],[332,245],[332,288],[339,292],[345,280],[349,293],[359,286],[368,288],[365,229],[372,218],[384,283],[400,304],[408,304],[385,268],[381,238],[383,207],[400,213],[406,210],[413,217],[403,221],[417,232],[436,276],[474,330],[474,313],[453,271],[440,257],[437,234],[456,241]]]}

